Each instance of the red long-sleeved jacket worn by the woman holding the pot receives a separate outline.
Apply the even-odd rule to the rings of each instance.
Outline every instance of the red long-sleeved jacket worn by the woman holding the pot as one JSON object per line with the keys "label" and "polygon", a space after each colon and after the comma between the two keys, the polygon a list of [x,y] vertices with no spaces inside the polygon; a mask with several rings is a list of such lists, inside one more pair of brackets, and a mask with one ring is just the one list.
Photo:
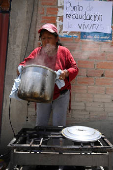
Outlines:
{"label": "red long-sleeved jacket worn by the woman holding the pot", "polygon": [[57,55],[51,57],[41,53],[41,49],[42,47],[37,47],[34,49],[33,52],[20,63],[20,65],[25,66],[28,64],[38,64],[49,67],[54,71],[58,71],[59,69],[67,69],[69,72],[69,77],[65,79],[65,86],[59,89],[55,84],[53,95],[53,100],[55,100],[60,95],[62,90],[71,89],[70,82],[77,76],[78,68],[73,56],[66,47],[58,46]]}

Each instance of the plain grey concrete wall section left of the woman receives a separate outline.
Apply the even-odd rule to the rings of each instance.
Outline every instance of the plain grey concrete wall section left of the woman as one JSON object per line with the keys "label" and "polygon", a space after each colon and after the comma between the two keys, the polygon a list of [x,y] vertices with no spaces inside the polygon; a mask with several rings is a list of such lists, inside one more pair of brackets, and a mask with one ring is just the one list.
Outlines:
{"label": "plain grey concrete wall section left of the woman", "polygon": [[[8,54],[6,63],[4,102],[2,114],[2,133],[1,133],[1,152],[7,150],[7,144],[13,138],[13,132],[9,121],[9,94],[12,89],[14,79],[17,76],[18,64],[29,55],[35,48],[36,24],[37,24],[38,1],[35,0],[16,0],[11,3],[10,29]],[[33,105],[33,109],[32,109]],[[29,114],[32,115],[26,122],[27,102],[11,100],[10,118],[15,134],[22,127],[35,125],[35,107],[30,104]]]}

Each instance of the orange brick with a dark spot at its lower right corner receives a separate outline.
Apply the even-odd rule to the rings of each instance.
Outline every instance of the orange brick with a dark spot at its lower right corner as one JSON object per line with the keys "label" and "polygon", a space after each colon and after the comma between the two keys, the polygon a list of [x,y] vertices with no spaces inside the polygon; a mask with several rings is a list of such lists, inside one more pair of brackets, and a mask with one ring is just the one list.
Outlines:
{"label": "orange brick with a dark spot at its lower right corner", "polygon": [[103,77],[104,71],[103,70],[87,70],[87,77]]}

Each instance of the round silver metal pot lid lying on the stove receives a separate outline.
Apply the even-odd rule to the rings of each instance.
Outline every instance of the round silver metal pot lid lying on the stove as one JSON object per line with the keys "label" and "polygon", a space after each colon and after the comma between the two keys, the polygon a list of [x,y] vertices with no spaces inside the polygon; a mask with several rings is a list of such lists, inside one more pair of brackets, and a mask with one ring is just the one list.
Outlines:
{"label": "round silver metal pot lid lying on the stove", "polygon": [[62,130],[62,135],[77,142],[94,142],[101,138],[101,133],[86,126],[71,126]]}

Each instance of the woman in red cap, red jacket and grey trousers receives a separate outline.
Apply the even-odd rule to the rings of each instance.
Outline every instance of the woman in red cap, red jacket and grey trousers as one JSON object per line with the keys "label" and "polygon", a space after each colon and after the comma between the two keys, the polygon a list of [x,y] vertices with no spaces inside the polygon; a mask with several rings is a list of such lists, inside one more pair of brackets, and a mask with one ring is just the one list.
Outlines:
{"label": "woman in red cap, red jacket and grey trousers", "polygon": [[61,45],[58,30],[54,24],[44,24],[38,31],[41,46],[34,49],[20,65],[40,64],[54,71],[61,70],[60,80],[65,85],[54,87],[51,103],[37,103],[36,126],[48,126],[51,111],[53,112],[53,126],[66,126],[66,115],[70,101],[71,81],[78,74],[77,64],[70,51]]}

